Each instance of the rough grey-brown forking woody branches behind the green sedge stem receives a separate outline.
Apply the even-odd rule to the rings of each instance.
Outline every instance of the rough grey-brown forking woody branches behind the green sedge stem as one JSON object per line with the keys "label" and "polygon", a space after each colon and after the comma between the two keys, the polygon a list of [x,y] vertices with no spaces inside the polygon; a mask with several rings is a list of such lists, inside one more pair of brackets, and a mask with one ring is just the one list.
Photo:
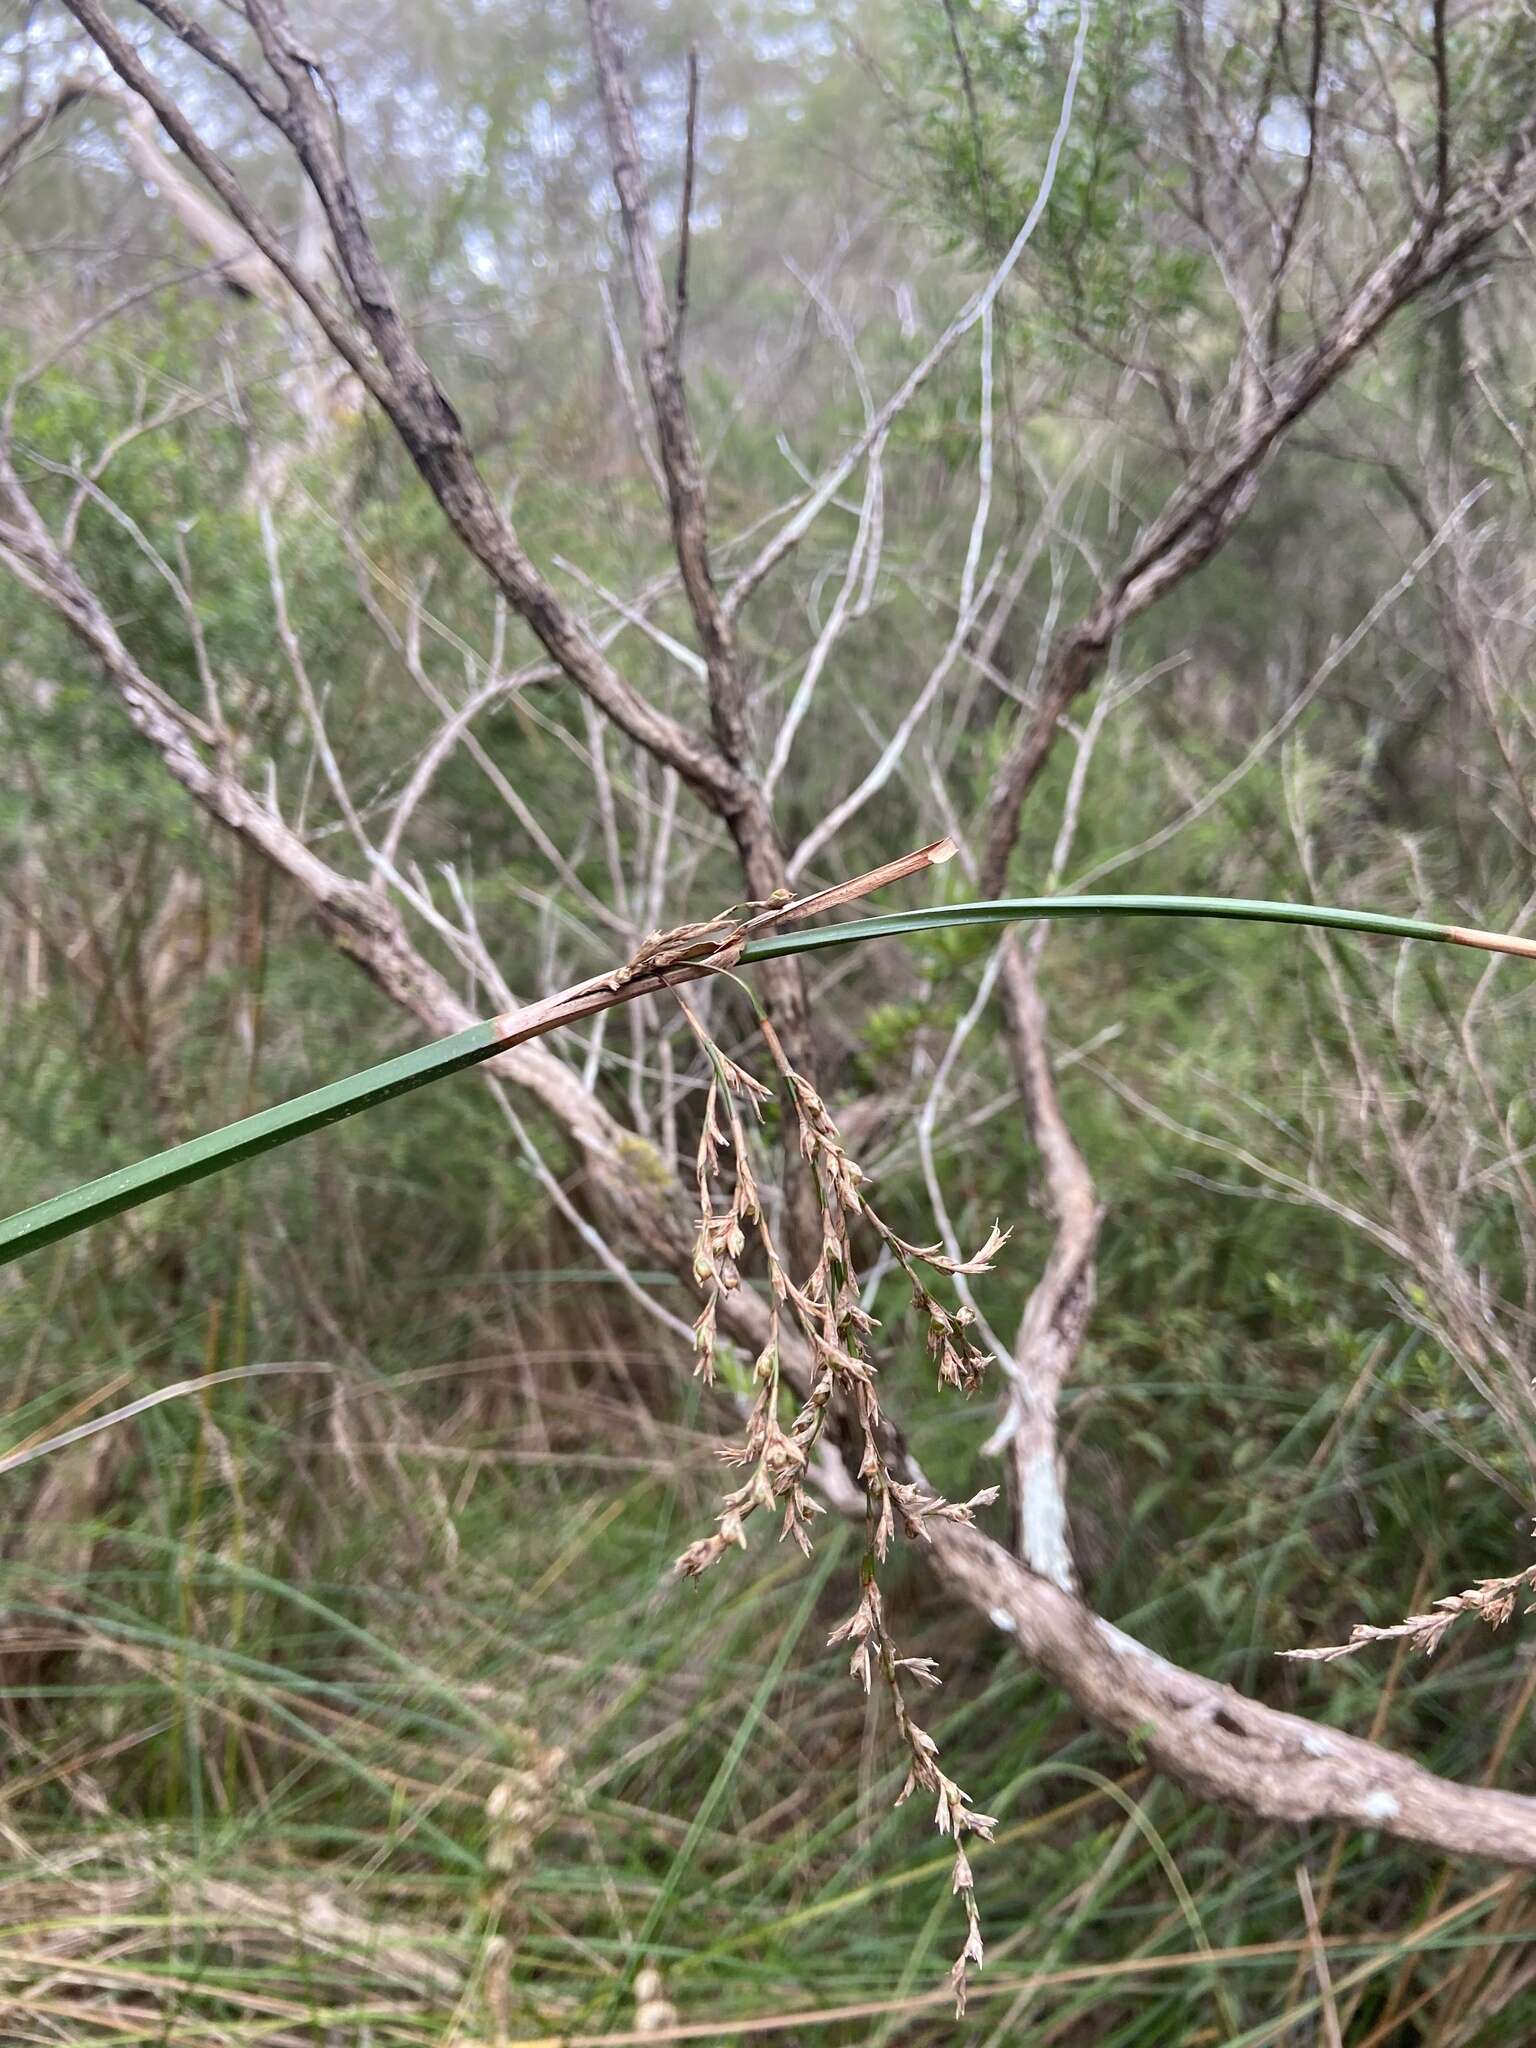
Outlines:
{"label": "rough grey-brown forking woody branches behind the green sedge stem", "polygon": [[[319,57],[299,37],[281,0],[248,0],[246,16],[264,59],[260,76],[207,29],[182,16],[170,0],[152,0],[147,12],[186,51],[231,82],[260,121],[287,141],[324,213],[344,281],[342,297],[322,289],[315,274],[291,254],[233,170],[209,145],[188,104],[145,59],[141,45],[123,31],[119,14],[98,0],[63,0],[63,4],[121,80],[121,90],[111,88],[111,96],[129,109],[127,133],[141,137],[147,117],[154,115],[213,195],[205,197],[178,172],[186,190],[195,193],[199,205],[211,209],[221,223],[205,219],[203,242],[217,254],[219,238],[227,229],[233,238],[231,252],[238,240],[238,256],[227,258],[229,274],[236,281],[244,274],[236,270],[236,260],[260,266],[250,274],[260,274],[264,281],[260,291],[264,303],[272,303],[266,281],[276,281],[274,291],[285,305],[303,307],[313,332],[360,379],[387,416],[457,539],[483,569],[502,604],[539,641],[547,657],[539,674],[553,672],[575,688],[590,707],[596,731],[631,743],[647,770],[655,770],[664,791],[680,784],[698,801],[713,827],[729,838],[748,899],[764,905],[764,913],[774,911],[774,897],[786,887],[786,862],[768,791],[754,764],[754,705],[739,647],[745,606],[762,582],[788,559],[817,514],[834,502],[858,461],[868,455],[870,485],[858,541],[862,553],[848,563],[844,596],[831,621],[842,631],[844,623],[858,614],[864,602],[860,588],[864,563],[879,563],[881,555],[883,434],[922,387],[922,375],[913,373],[893,399],[868,408],[856,453],[852,457],[844,453],[821,471],[799,508],[774,526],[772,537],[760,545],[735,582],[723,586],[717,559],[711,555],[705,465],[682,375],[682,293],[676,303],[668,301],[614,14],[608,0],[590,0],[598,94],[639,305],[657,475],[666,489],[676,575],[698,641],[696,655],[692,649],[686,651],[694,664],[702,662],[709,692],[709,727],[694,727],[631,682],[612,653],[612,643],[559,596],[492,494],[453,401],[422,354],[377,256],[346,166],[338,113]],[[1313,131],[1319,125],[1317,94],[1325,29],[1325,8],[1319,6],[1309,70]],[[1073,80],[1075,76],[1073,72]],[[1444,66],[1438,76],[1444,84]],[[41,137],[47,121],[59,119],[72,92],[80,98],[102,90],[82,86],[78,92],[72,88],[59,94],[43,115],[12,137],[0,154],[0,166]],[[1309,154],[1305,180],[1280,221],[1264,272],[1249,281],[1241,362],[1233,369],[1227,395],[1212,403],[1202,428],[1186,418],[1182,406],[1174,408],[1180,416],[1176,440],[1192,451],[1184,477],[1124,551],[1122,561],[1098,575],[1096,596],[1081,616],[1051,633],[1034,686],[1028,686],[1028,678],[1004,678],[1016,684],[1022,702],[1006,756],[985,797],[979,840],[981,893],[1006,893],[1020,840],[1022,807],[1036,788],[1067,717],[1100,682],[1124,629],[1178,590],[1229,541],[1262,489],[1266,467],[1286,434],[1337,387],[1384,326],[1536,203],[1530,123],[1511,137],[1497,160],[1462,168],[1458,174],[1448,139],[1444,90],[1438,94],[1438,106],[1436,172],[1432,186],[1419,193],[1417,213],[1395,236],[1389,252],[1343,287],[1339,303],[1319,330],[1286,346],[1290,330],[1278,317],[1278,309],[1307,236],[1307,211],[1317,176]],[[1069,111],[1067,102],[1063,121]],[[1309,152],[1315,145],[1313,135]],[[1210,152],[1198,135],[1192,150],[1198,164],[1210,168]],[[1225,176],[1219,166],[1217,176]],[[1221,193],[1206,186],[1200,205],[1208,231],[1223,236],[1223,221],[1231,219],[1231,209],[1223,213]],[[997,291],[1012,274],[1008,264],[1020,254],[1022,244],[995,272]],[[1243,256],[1251,270],[1251,256],[1237,250],[1235,242],[1231,254]],[[1233,260],[1231,274],[1241,279],[1243,264]],[[979,313],[971,317],[967,311],[952,332],[946,330],[946,346],[952,346],[958,334],[971,332],[979,319]],[[920,371],[926,373],[936,360],[940,356],[930,352]],[[989,506],[983,506],[975,520],[977,557],[985,539],[987,510]],[[399,852],[397,840],[389,842],[393,870],[393,879],[385,877],[389,889],[379,885],[377,874],[350,877],[322,858],[315,846],[279,813],[276,803],[246,782],[215,721],[188,713],[141,666],[100,596],[72,561],[68,545],[43,518],[25,481],[25,465],[12,449],[4,451],[0,469],[0,559],[88,649],[131,727],[178,786],[285,879],[332,944],[358,965],[403,1016],[428,1034],[449,1034],[471,1022],[473,1012],[461,989],[412,938],[401,903],[420,913],[422,897],[406,893],[412,883],[393,860]],[[872,569],[868,573],[872,578]],[[1024,578],[1018,588],[1022,584]],[[995,649],[1008,606],[1018,600],[1018,590],[1012,596],[1008,590],[1001,559],[995,586],[977,580],[977,559],[971,559],[965,596],[977,606],[977,618],[969,623],[977,627],[969,633],[973,643],[995,627],[987,641]],[[965,606],[956,608],[963,610]],[[825,641],[817,641],[815,666],[807,668],[811,686],[834,639],[836,633],[829,633]],[[956,631],[956,668],[963,651],[967,633]],[[948,694],[948,672],[934,684],[934,698],[942,702],[940,686]],[[489,678],[485,698],[475,702],[489,700],[496,688],[502,688],[500,676]],[[457,741],[467,723],[469,713],[453,731],[444,725],[449,737],[442,739],[438,754]],[[600,762],[602,743],[594,741],[594,764]],[[893,772],[895,766],[899,762],[893,762]],[[602,774],[606,768],[594,766],[598,786]],[[412,805],[414,801],[416,795]],[[657,799],[655,834],[664,850],[666,836],[676,829],[676,813],[668,809],[672,801],[672,795]],[[604,809],[602,799],[598,807]],[[932,848],[926,858],[934,858]],[[662,858],[653,862],[653,874],[666,874]],[[637,897],[643,901],[639,891]],[[829,907],[836,899],[834,889],[809,901]],[[807,903],[795,909],[805,913]],[[629,967],[618,971],[616,981],[608,977],[606,989],[588,991],[594,997],[590,1008],[578,1001],[569,1020],[612,1010],[612,997],[618,993],[649,991],[688,979],[700,965],[709,969],[723,965],[748,924],[750,920],[739,918],[725,924],[709,920],[694,928],[657,934],[647,942],[649,950],[641,948]],[[645,930],[645,920],[637,918],[633,930]],[[487,948],[475,944],[477,934],[469,930],[467,920],[453,928],[453,940],[473,973],[489,979],[494,963],[487,961]],[[872,1477],[889,1501],[915,1503],[911,1513],[922,1524],[924,1556],[977,1620],[1001,1632],[1085,1714],[1141,1745],[1159,1769],[1192,1792],[1272,1821],[1294,1825],[1327,1821],[1382,1829],[1438,1851],[1487,1855],[1536,1868],[1536,1800],[1452,1784],[1380,1743],[1346,1737],[1300,1714],[1245,1700],[1214,1679],[1165,1663],[1100,1618],[1079,1595],[1065,1526],[1057,1401],[1071,1374],[1094,1303],[1100,1204],[1087,1161],[1061,1112],[1044,999],[1036,979],[1036,958],[1028,948],[1014,938],[1004,940],[999,991],[1008,1057],[1024,1120],[1040,1157],[1055,1243],[1014,1346],[1026,1389],[1012,1421],[1020,1556],[983,1532],[924,1505],[938,1501],[938,1495],[911,1460],[885,1407],[860,1393],[868,1386],[866,1378],[844,1372],[842,1382],[831,1384],[827,1346],[834,1337],[827,1333],[825,1315],[846,1317],[848,1305],[834,1298],[834,1286],[823,1286],[821,1292],[805,1288],[805,1272],[815,1270],[823,1245],[823,1212],[815,1204],[815,1182],[834,1165],[831,1139],[815,1122],[813,1108],[819,1100],[815,1034],[797,963],[776,963],[764,973],[762,987],[770,1030],[782,1047],[780,1077],[795,1077],[791,1085],[799,1090],[795,1100],[803,1112],[799,1128],[811,1133],[805,1161],[811,1171],[801,1174],[799,1206],[788,1233],[791,1280],[805,1294],[805,1313],[799,1319],[782,1317],[782,1305],[766,1300],[756,1288],[721,1284],[711,1296],[711,1331],[727,1337],[750,1358],[772,1356],[772,1370],[782,1374],[786,1395],[799,1403],[797,1413],[813,1411],[817,1430],[811,1436],[807,1425],[803,1436],[809,1436],[811,1444],[821,1440],[825,1411],[825,1436],[836,1442],[848,1468],[852,1473],[866,1468],[864,1477]],[[606,1001],[598,1001],[598,995],[606,995]],[[719,1051],[719,1042],[711,1042]],[[690,1196],[678,1184],[670,1157],[653,1145],[647,1149],[639,1128],[631,1128],[614,1112],[592,1077],[543,1042],[508,1047],[489,1071],[524,1090],[569,1137],[584,1165],[586,1194],[604,1227],[688,1284],[698,1272],[700,1249],[692,1229]],[[707,1182],[709,1178],[705,1171]],[[745,1221],[750,1221],[745,1212],[733,1212],[727,1235],[731,1227],[743,1229]],[[811,1255],[803,1257],[807,1249]],[[913,1251],[909,1245],[897,1249],[889,1243],[887,1249],[895,1249],[897,1257]],[[719,1247],[711,1255],[719,1264]],[[709,1268],[709,1257],[705,1264]],[[1466,1292],[1456,1300],[1458,1313],[1470,1327],[1477,1307],[1473,1294]],[[791,1321],[795,1327],[788,1327]],[[797,1423],[782,1434],[793,1440],[795,1427]],[[788,1493],[795,1516],[803,1518],[805,1507],[797,1495],[803,1470],[770,1430],[766,1411],[758,1417],[750,1448],[756,1460],[754,1473],[764,1475],[764,1485],[754,1495],[756,1505],[766,1505],[762,1497],[766,1493],[782,1507]],[[809,1458],[807,1444],[795,1444],[795,1450],[807,1452]],[[795,1466],[793,1485],[780,1487],[778,1481],[791,1466]],[[727,1513],[739,1513],[745,1505],[750,1503],[737,1501]],[[725,1534],[735,1540],[735,1524]],[[856,1645],[856,1653],[866,1651],[868,1659],[883,1667],[897,1663],[895,1647],[868,1589],[848,1640]],[[948,1784],[944,1780],[944,1786]],[[928,1784],[928,1790],[952,1800],[944,1786]],[[979,1819],[971,1817],[973,1823]]]}

